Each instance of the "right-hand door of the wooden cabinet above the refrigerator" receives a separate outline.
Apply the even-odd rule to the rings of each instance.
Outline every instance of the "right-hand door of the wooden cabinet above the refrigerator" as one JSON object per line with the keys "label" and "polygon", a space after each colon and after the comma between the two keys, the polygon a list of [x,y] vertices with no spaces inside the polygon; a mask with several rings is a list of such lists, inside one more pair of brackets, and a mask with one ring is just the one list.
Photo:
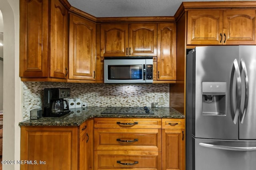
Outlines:
{"label": "right-hand door of the wooden cabinet above the refrigerator", "polygon": [[254,45],[256,10],[226,10],[223,13],[223,44]]}

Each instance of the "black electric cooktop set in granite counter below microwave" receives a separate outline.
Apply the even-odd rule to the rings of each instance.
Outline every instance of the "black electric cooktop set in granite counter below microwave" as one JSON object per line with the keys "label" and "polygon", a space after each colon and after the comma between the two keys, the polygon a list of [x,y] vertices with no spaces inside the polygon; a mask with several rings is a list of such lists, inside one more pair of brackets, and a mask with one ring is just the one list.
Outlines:
{"label": "black electric cooktop set in granite counter below microwave", "polygon": [[154,114],[148,107],[108,107],[101,114],[145,115]]}

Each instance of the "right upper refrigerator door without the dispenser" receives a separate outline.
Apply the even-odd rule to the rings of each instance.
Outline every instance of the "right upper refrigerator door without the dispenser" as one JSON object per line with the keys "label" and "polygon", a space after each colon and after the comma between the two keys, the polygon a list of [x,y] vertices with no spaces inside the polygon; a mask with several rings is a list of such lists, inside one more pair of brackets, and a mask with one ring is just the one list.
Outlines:
{"label": "right upper refrigerator door without the dispenser", "polygon": [[[244,68],[242,67],[243,61]],[[239,63],[242,80],[239,139],[256,139],[256,46],[239,46]],[[245,115],[244,122],[241,123],[243,114]]]}

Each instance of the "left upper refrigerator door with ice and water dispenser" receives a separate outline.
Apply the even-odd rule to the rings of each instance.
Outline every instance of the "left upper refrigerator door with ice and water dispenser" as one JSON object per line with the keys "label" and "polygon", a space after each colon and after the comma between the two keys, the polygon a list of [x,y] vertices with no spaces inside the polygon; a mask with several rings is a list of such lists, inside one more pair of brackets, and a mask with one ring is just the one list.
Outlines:
{"label": "left upper refrigerator door with ice and water dispenser", "polygon": [[[195,62],[192,62],[195,63],[192,85],[193,135],[196,138],[238,139],[238,123],[234,124],[234,111],[230,103],[233,101],[233,107],[236,106],[236,77],[240,77],[236,75],[236,71],[239,73],[236,62],[238,46],[196,47],[195,54]],[[231,80],[234,86],[231,86]],[[232,100],[230,87],[234,92]]]}

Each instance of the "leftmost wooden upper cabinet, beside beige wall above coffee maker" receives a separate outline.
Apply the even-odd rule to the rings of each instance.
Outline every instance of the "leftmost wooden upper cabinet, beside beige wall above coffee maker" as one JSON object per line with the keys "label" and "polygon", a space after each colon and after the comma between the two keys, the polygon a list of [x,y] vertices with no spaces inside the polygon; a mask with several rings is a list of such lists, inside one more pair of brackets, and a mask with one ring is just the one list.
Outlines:
{"label": "leftmost wooden upper cabinet, beside beige wall above coffee maker", "polygon": [[61,2],[20,0],[20,77],[24,81],[67,79],[68,8]]}

